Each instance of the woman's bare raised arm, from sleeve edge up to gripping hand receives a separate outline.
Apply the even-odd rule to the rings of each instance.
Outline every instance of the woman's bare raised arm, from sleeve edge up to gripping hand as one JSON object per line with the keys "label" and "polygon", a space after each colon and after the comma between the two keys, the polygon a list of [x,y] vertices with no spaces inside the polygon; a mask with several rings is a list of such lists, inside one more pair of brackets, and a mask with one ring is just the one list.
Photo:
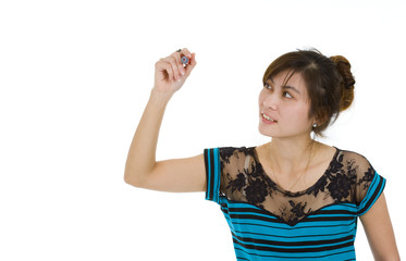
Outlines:
{"label": "woman's bare raised arm, from sleeve edge up to gripping hand", "polygon": [[[185,67],[182,57],[189,59]],[[156,63],[155,85],[139,121],[125,163],[124,181],[135,187],[161,191],[205,191],[202,154],[176,160],[156,161],[159,130],[168,102],[196,66],[195,53],[174,52]]]}

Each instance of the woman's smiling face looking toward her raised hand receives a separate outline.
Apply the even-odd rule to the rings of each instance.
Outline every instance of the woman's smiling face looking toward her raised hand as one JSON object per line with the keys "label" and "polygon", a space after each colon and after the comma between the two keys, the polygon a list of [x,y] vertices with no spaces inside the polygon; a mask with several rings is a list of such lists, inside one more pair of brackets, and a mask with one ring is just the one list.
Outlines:
{"label": "woman's smiling face looking toward her raised hand", "polygon": [[287,72],[268,79],[259,94],[259,132],[274,138],[310,135],[316,123],[309,117],[310,101],[302,75],[294,73],[283,86]]}

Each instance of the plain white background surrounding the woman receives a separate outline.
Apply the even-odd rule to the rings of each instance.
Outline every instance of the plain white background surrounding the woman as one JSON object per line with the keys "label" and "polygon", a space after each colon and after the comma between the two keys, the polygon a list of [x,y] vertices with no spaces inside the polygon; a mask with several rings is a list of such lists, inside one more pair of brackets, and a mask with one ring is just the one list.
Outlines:
{"label": "plain white background surrounding the woman", "polygon": [[[126,185],[124,165],[157,60],[187,47],[197,66],[168,105],[158,160],[256,146],[257,99],[279,55],[345,55],[350,110],[323,141],[387,178],[405,247],[402,1],[1,1],[0,260],[235,260],[204,192]],[[359,226],[357,258],[371,260]]]}

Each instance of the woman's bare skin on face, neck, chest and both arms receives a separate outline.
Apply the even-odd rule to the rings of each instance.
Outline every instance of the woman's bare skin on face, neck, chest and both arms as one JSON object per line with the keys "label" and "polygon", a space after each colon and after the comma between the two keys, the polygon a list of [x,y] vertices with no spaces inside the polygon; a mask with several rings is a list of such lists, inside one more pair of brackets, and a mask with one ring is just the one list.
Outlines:
{"label": "woman's bare skin on face, neck, chest and both arms", "polygon": [[[186,67],[181,61],[183,55],[189,58]],[[124,181],[127,184],[159,191],[206,191],[202,153],[185,159],[156,161],[165,108],[196,64],[195,53],[187,49],[173,52],[156,63],[155,85],[125,163]],[[259,112],[263,111],[278,122],[266,124],[259,113],[259,132],[272,137],[272,140],[257,147],[257,153],[266,171],[273,165],[272,172],[267,173],[275,173],[279,185],[295,191],[309,187],[320,177],[335,149],[311,139],[311,127],[318,119],[308,116],[310,105],[300,75],[292,76],[287,83],[291,88],[282,86],[284,77],[281,73],[267,82],[267,88],[259,95]],[[376,260],[399,260],[383,194],[360,219]]]}

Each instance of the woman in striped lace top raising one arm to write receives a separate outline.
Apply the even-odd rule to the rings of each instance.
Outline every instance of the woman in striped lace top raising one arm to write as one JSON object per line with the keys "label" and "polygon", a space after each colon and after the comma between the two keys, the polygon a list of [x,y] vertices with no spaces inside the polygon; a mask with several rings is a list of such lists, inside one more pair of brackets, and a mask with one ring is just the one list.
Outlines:
{"label": "woman in striped lace top raising one arm to write", "polygon": [[[189,59],[183,65],[182,58]],[[237,260],[355,260],[359,216],[376,260],[399,260],[380,176],[362,156],[316,141],[354,98],[343,57],[295,51],[263,75],[258,147],[206,149],[156,162],[165,107],[196,66],[179,50],[156,63],[155,86],[130,148],[125,182],[163,191],[206,191],[221,206]]]}

